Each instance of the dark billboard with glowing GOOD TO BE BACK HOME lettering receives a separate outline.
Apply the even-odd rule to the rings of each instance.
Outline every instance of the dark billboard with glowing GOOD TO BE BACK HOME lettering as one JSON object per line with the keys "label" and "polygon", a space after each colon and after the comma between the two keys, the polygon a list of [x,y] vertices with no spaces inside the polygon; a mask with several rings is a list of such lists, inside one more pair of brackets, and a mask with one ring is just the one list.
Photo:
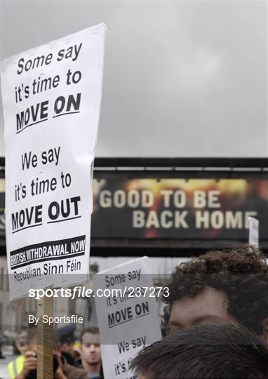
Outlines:
{"label": "dark billboard with glowing GOOD TO BE BACK HOME lettering", "polygon": [[248,217],[267,239],[268,180],[95,180],[92,237],[248,239]]}

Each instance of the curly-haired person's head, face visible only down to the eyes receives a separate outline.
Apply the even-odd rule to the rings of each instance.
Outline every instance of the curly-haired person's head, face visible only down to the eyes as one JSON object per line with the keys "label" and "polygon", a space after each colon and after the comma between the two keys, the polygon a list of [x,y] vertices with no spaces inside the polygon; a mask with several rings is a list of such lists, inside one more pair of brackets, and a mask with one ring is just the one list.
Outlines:
{"label": "curly-haired person's head, face visible only down to the eyes", "polygon": [[260,251],[210,251],[176,267],[168,288],[163,324],[171,330],[241,324],[268,345],[268,264]]}

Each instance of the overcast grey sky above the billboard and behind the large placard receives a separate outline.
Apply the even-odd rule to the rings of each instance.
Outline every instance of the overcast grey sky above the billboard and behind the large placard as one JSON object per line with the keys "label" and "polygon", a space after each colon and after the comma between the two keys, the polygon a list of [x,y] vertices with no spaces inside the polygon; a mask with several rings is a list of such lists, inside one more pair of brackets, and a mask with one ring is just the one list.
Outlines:
{"label": "overcast grey sky above the billboard and behind the large placard", "polygon": [[100,22],[98,157],[267,156],[266,1],[2,1],[1,59]]}

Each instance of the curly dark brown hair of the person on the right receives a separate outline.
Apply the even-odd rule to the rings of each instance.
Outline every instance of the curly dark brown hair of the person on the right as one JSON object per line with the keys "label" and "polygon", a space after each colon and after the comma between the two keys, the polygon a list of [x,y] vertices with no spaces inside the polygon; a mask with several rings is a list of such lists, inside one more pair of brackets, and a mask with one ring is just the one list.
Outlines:
{"label": "curly dark brown hair of the person on the right", "polygon": [[170,295],[162,322],[168,324],[175,300],[194,297],[205,286],[223,291],[229,300],[227,312],[246,328],[262,334],[268,317],[268,262],[253,246],[208,251],[175,268],[168,284]]}

